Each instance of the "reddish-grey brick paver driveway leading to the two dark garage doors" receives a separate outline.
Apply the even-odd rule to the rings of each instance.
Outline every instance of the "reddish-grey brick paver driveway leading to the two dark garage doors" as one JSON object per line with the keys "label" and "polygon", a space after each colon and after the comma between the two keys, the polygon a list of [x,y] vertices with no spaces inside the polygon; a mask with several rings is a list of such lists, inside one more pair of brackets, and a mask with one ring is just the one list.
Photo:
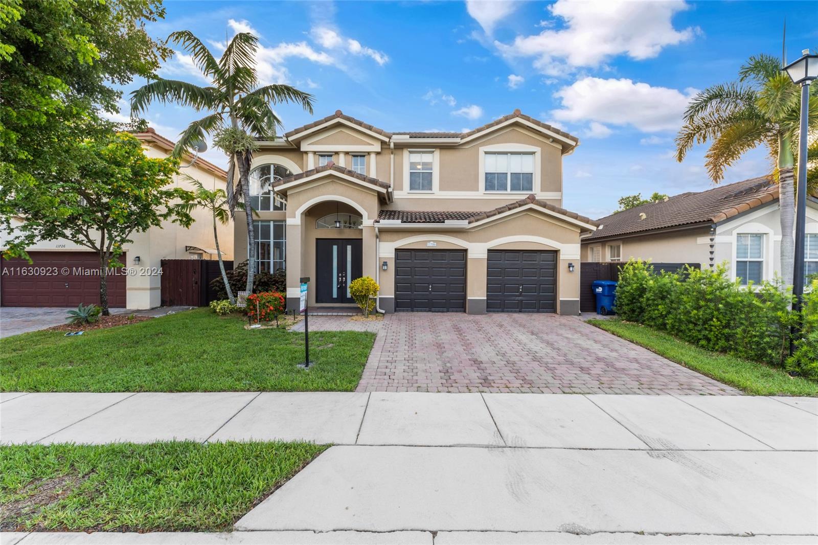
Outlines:
{"label": "reddish-grey brick paver driveway leading to the two dark garage doors", "polygon": [[396,313],[377,327],[310,322],[378,331],[359,392],[740,394],[574,317]]}

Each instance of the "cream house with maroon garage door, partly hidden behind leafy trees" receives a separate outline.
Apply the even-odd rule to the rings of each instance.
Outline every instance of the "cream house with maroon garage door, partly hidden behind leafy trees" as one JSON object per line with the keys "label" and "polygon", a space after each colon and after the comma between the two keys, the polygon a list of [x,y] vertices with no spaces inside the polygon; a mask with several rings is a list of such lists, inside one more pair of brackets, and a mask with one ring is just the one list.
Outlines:
{"label": "cream house with maroon garage door, partly hidden behind leafy trees", "polygon": [[[149,157],[167,157],[173,151],[174,142],[149,128],[136,133]],[[182,160],[182,166],[190,164],[193,157]],[[226,187],[227,173],[202,159],[180,172],[199,180],[208,189]],[[176,187],[193,190],[181,174],[174,177]],[[133,243],[124,246],[119,261],[136,271],[134,276],[118,272],[108,277],[108,302],[112,308],[152,309],[160,306],[162,259],[217,259],[213,250],[213,218],[204,209],[191,214],[196,222],[189,229],[166,221],[162,227],[151,227],[146,232],[135,232]],[[7,234],[0,232],[0,247]],[[218,241],[222,257],[231,259],[233,232],[231,225],[218,226]],[[81,270],[99,270],[97,254],[84,246],[64,239],[40,241],[27,249],[34,263],[20,260],[2,260],[7,269],[0,277],[0,305],[15,307],[70,307],[79,303],[99,303],[99,277],[83,274]],[[56,274],[21,275],[8,274],[8,269],[26,268],[29,271],[56,271]],[[63,274],[68,268],[69,274]],[[13,271],[12,271],[13,272]]]}

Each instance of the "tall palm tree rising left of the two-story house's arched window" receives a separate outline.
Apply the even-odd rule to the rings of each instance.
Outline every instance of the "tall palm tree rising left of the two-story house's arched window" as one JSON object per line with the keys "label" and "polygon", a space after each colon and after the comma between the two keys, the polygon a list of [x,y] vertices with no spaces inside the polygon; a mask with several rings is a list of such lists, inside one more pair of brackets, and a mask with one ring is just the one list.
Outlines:
{"label": "tall palm tree rising left of the two-story house's arched window", "polygon": [[[173,79],[155,79],[131,93],[131,115],[144,112],[151,101],[174,102],[190,106],[196,111],[209,111],[205,117],[193,121],[180,135],[173,155],[190,151],[197,142],[204,142],[206,135],[213,136],[213,143],[227,153],[227,205],[231,216],[239,199],[244,197],[247,220],[247,291],[253,291],[256,268],[253,214],[249,199],[249,169],[253,151],[258,140],[272,140],[281,119],[272,105],[295,102],[312,114],[312,95],[284,84],[258,86],[255,70],[255,53],[258,38],[240,32],[226,44],[217,61],[199,38],[189,30],[170,34],[169,41],[181,44],[189,52],[196,66],[213,82],[209,87]],[[236,170],[238,186],[234,188]]]}

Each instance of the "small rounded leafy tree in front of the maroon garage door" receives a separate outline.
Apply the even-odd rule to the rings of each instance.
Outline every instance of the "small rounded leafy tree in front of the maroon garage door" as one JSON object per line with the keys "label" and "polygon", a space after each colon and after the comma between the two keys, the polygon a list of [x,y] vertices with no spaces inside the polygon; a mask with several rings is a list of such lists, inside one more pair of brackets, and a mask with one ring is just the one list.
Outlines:
{"label": "small rounded leafy tree in front of the maroon garage door", "polygon": [[93,250],[100,263],[100,306],[109,315],[109,267],[122,267],[122,247],[134,232],[145,232],[171,220],[190,227],[186,204],[190,191],[173,184],[179,162],[151,159],[142,142],[129,133],[81,142],[65,142],[71,160],[30,187],[3,191],[21,218],[11,232],[9,256],[28,257],[34,241],[66,238]]}

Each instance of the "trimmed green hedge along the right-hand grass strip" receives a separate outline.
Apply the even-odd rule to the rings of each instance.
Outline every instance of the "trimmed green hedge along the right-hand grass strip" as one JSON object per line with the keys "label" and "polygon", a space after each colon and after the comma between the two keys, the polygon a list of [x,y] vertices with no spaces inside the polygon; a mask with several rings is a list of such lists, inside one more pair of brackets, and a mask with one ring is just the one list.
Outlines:
{"label": "trimmed green hedge along the right-hand grass strip", "polygon": [[[818,282],[804,295],[802,317],[780,280],[748,289],[730,281],[726,266],[655,273],[649,262],[622,267],[616,310],[622,319],[667,331],[704,349],[785,367],[818,379]],[[803,319],[789,356],[790,327]]]}

